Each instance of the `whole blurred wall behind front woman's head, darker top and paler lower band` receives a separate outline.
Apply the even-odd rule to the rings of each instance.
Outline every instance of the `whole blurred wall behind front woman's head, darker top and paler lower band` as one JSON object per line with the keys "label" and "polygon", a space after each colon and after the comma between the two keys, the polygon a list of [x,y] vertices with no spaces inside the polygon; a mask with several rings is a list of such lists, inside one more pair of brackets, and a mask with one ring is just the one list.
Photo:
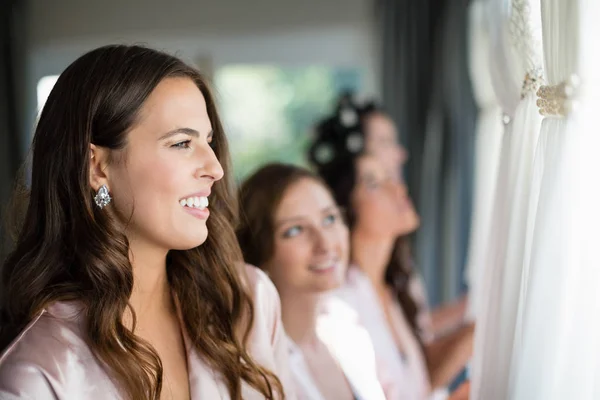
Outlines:
{"label": "whole blurred wall behind front woman's head, darker top and paler lower band", "polygon": [[[188,61],[324,64],[365,71],[380,93],[374,0],[30,0],[29,101],[35,86],[87,50],[144,43]],[[168,5],[167,5],[168,4]],[[31,123],[29,123],[31,126]]]}

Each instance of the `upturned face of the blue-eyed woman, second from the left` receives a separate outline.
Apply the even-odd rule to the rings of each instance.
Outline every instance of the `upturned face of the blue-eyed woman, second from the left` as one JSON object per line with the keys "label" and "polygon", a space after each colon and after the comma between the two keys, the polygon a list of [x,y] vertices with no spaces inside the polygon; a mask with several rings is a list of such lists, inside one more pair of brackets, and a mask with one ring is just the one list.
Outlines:
{"label": "upturned face of the blue-eyed woman, second from the left", "polygon": [[312,178],[292,184],[274,215],[274,252],[263,265],[282,295],[337,288],[348,264],[348,228],[329,191]]}

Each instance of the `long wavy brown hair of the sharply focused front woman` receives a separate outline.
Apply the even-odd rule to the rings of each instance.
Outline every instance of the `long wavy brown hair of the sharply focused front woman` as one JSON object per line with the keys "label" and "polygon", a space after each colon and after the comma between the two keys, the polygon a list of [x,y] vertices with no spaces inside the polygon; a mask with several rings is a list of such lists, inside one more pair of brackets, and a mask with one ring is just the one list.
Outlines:
{"label": "long wavy brown hair of the sharply focused front woman", "polygon": [[51,303],[76,300],[86,311],[89,346],[124,395],[132,400],[160,397],[161,360],[123,323],[124,312],[133,312],[127,237],[111,207],[95,206],[88,171],[90,144],[124,148],[145,100],[169,77],[191,79],[204,95],[214,151],[226,172],[214,185],[206,242],[168,254],[167,275],[184,328],[195,349],[222,374],[233,399],[241,399],[242,381],[265,398],[283,397],[278,378],[259,366],[245,346],[254,307],[232,225],[237,207],[214,98],[194,68],[139,46],[106,46],[83,55],[62,73],[48,97],[33,139],[29,201],[2,270],[3,347]]}

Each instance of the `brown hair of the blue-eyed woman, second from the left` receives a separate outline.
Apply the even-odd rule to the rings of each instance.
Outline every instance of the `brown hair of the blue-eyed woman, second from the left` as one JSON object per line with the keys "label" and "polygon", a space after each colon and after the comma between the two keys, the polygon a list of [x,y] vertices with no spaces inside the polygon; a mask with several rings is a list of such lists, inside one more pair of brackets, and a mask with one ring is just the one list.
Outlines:
{"label": "brown hair of the blue-eyed woman, second from the left", "polygon": [[236,235],[246,262],[262,266],[273,256],[275,212],[287,189],[302,179],[313,179],[327,187],[312,172],[279,163],[260,168],[242,183]]}

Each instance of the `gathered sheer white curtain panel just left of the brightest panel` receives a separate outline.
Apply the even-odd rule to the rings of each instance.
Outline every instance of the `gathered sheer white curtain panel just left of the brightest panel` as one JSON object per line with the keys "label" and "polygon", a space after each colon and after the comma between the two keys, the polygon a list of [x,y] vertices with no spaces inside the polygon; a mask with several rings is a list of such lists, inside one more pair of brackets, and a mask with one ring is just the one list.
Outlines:
{"label": "gathered sheer white curtain panel just left of the brightest panel", "polygon": [[[525,242],[527,215],[532,183],[535,147],[540,132],[541,116],[536,105],[536,91],[543,81],[542,31],[540,0],[497,1],[508,6],[506,22],[510,43],[520,68],[522,90],[514,111],[512,124],[505,133],[500,174],[504,191],[497,190],[498,217],[489,256],[491,278],[485,293],[491,293],[481,310],[485,314],[477,326],[474,365],[473,398],[505,399],[508,397],[512,364],[514,330],[517,324],[519,292]],[[497,7],[498,7],[497,5]],[[495,236],[495,237],[494,237]]]}

